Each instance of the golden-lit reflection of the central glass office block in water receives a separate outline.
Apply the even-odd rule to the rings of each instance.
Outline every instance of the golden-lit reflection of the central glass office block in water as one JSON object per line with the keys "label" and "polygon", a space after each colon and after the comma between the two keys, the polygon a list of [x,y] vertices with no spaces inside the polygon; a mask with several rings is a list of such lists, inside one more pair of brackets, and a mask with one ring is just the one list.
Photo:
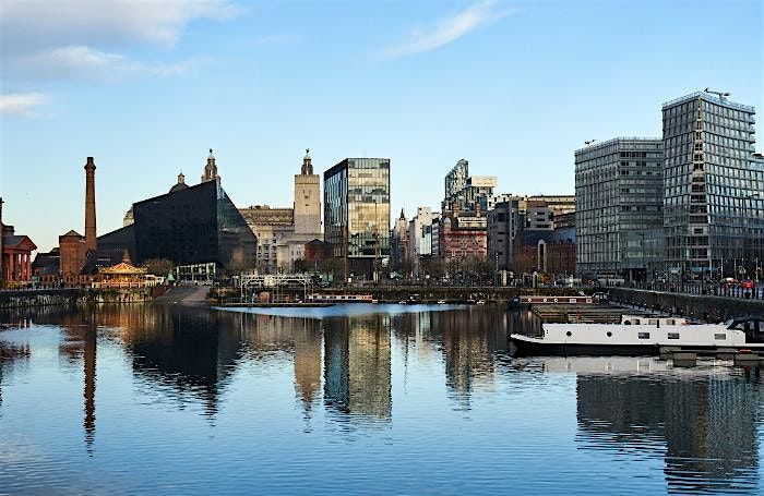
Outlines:
{"label": "golden-lit reflection of the central glass office block in water", "polygon": [[390,316],[323,320],[324,402],[353,419],[392,414]]}

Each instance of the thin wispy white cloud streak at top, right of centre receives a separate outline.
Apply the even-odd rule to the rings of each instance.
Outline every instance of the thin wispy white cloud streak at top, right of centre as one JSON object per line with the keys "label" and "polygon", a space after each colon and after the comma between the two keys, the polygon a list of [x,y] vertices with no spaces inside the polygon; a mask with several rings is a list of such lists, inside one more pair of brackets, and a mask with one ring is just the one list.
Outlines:
{"label": "thin wispy white cloud streak at top, right of centre", "polygon": [[434,50],[510,13],[509,10],[498,10],[496,0],[473,3],[466,10],[442,19],[432,26],[415,29],[410,39],[389,47],[383,56],[396,58]]}

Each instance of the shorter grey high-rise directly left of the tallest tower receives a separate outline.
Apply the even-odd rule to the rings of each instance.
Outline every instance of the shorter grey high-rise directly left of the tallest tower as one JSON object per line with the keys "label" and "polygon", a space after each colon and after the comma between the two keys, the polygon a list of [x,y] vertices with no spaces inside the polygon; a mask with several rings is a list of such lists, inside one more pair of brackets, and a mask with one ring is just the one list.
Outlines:
{"label": "shorter grey high-rise directly left of the tallest tower", "polygon": [[661,261],[662,142],[617,137],[575,152],[576,271],[646,280]]}

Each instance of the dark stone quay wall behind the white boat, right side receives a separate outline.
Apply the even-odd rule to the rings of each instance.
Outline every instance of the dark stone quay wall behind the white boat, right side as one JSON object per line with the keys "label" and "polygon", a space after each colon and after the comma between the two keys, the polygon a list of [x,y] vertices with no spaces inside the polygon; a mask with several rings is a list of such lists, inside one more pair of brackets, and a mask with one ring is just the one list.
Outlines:
{"label": "dark stone quay wall behind the white boat, right side", "polygon": [[675,315],[721,322],[742,315],[764,315],[764,301],[708,294],[683,294],[630,288],[609,288],[610,299]]}

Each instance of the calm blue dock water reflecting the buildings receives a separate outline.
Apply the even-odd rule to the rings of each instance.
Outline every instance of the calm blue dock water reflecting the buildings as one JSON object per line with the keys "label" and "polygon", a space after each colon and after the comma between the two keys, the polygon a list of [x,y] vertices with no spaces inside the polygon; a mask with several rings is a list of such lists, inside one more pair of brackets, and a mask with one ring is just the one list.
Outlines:
{"label": "calm blue dock water reflecting the buildings", "polygon": [[499,309],[4,315],[0,494],[764,489],[755,371],[523,359]]}

